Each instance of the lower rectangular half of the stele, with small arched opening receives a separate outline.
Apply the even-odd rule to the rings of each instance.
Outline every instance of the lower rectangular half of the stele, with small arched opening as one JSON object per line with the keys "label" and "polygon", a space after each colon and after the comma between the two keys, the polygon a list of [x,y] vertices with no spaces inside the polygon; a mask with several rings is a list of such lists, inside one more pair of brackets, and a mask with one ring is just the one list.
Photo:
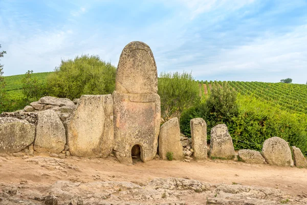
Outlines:
{"label": "lower rectangular half of the stele, with small arched opening", "polygon": [[157,154],[160,129],[158,94],[125,94],[115,91],[114,154],[121,162],[131,163],[131,149],[140,146],[142,161]]}

